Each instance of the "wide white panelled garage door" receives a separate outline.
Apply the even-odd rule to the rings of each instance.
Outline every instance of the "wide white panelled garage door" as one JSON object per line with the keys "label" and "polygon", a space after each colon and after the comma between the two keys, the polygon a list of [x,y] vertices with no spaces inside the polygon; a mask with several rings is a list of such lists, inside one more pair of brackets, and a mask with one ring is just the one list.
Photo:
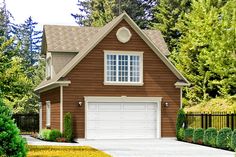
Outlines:
{"label": "wide white panelled garage door", "polygon": [[88,139],[157,138],[157,103],[88,102]]}

